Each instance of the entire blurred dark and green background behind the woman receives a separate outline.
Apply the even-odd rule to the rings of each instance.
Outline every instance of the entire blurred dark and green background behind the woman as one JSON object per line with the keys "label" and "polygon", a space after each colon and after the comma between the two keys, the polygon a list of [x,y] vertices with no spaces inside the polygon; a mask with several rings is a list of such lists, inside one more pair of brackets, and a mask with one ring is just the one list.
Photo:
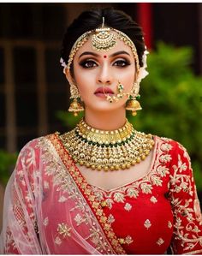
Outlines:
{"label": "entire blurred dark and green background behind the woman", "polygon": [[202,3],[0,3],[0,212],[21,147],[78,122],[67,114],[60,47],[74,17],[96,6],[122,9],[143,27],[150,74],[143,110],[128,119],[187,148],[202,199]]}

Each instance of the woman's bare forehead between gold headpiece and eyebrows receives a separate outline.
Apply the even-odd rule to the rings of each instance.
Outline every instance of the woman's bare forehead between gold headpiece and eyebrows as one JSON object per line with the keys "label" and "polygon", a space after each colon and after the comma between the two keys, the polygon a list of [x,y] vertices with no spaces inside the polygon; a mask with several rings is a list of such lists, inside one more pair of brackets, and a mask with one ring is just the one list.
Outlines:
{"label": "woman's bare forehead between gold headpiece and eyebrows", "polygon": [[127,51],[128,54],[131,57],[133,57],[133,52],[131,51],[131,48],[120,39],[116,39],[116,45],[112,49],[110,49],[108,51],[97,51],[92,48],[92,36],[90,36],[89,39],[86,41],[86,43],[84,45],[82,45],[80,47],[80,49],[76,52],[74,57],[75,58],[79,57],[80,54],[83,53],[84,51],[92,51],[101,56],[111,55],[111,54],[115,53],[116,51]]}

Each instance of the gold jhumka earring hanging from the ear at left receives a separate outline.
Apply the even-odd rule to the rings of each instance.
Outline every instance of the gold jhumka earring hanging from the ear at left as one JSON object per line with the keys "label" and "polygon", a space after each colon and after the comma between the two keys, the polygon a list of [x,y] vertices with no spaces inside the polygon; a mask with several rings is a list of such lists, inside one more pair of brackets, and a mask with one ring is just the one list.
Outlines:
{"label": "gold jhumka earring hanging from the ear at left", "polygon": [[80,104],[80,92],[75,85],[70,85],[70,98],[73,98],[73,102],[70,104],[68,111],[73,112],[74,116],[78,116],[78,112],[84,110],[83,105]]}

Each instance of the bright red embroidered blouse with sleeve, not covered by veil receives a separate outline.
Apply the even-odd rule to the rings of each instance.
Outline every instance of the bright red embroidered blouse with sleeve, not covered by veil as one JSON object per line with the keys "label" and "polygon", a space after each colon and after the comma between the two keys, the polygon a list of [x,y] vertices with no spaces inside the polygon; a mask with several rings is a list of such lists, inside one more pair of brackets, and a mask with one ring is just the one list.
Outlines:
{"label": "bright red embroidered blouse with sleeve, not covered by veil", "polygon": [[201,214],[190,159],[174,140],[156,137],[146,176],[104,191],[92,186],[128,254],[202,253]]}

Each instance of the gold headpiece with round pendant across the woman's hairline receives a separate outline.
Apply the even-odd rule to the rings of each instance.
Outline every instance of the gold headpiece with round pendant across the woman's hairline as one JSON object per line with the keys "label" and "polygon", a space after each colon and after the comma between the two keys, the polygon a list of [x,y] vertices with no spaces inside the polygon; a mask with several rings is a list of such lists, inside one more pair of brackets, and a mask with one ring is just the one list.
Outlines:
{"label": "gold headpiece with round pendant across the woman's hairline", "polygon": [[104,17],[103,17],[103,23],[101,27],[87,31],[86,33],[83,33],[79,37],[79,39],[75,41],[68,57],[68,64],[64,65],[63,60],[61,60],[62,66],[64,68],[68,68],[68,70],[70,69],[71,63],[73,62],[73,59],[74,59],[74,55],[76,54],[77,51],[79,51],[80,47],[86,43],[86,41],[90,38],[91,35],[92,35],[92,47],[96,51],[109,51],[111,48],[113,48],[116,45],[116,39],[122,40],[125,45],[128,45],[131,48],[131,51],[134,54],[134,60],[136,63],[136,68],[137,68],[136,72],[137,74],[139,74],[140,63],[139,63],[139,57],[138,57],[134,42],[128,37],[127,34],[122,33],[121,31],[112,27],[105,27]]}

